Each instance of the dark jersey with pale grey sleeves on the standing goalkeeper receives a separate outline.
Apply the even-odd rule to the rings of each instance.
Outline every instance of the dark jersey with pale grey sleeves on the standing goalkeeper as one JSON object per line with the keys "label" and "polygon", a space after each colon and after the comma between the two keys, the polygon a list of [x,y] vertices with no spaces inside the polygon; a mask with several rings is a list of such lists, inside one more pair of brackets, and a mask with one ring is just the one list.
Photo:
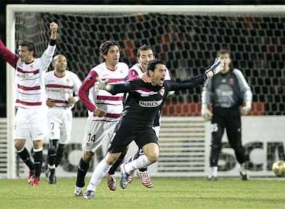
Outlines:
{"label": "dark jersey with pale grey sleeves on the standing goalkeeper", "polygon": [[242,102],[251,102],[251,88],[239,69],[209,78],[202,90],[202,104],[222,108],[238,108]]}

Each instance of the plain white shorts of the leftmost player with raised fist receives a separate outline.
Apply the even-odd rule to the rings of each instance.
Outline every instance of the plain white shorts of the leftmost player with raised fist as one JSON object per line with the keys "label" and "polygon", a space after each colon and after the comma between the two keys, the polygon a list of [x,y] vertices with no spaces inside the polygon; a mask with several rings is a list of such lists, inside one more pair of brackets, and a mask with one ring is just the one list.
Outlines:
{"label": "plain white shorts of the leftmost player with raised fist", "polygon": [[14,139],[46,140],[47,109],[24,109],[19,107],[14,118]]}

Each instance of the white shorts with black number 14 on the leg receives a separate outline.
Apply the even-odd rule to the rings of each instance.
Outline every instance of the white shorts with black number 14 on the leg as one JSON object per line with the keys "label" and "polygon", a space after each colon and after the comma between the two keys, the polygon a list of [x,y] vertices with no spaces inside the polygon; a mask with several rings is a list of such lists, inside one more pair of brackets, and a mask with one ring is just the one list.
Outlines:
{"label": "white shorts with black number 14 on the leg", "polygon": [[113,122],[93,121],[93,117],[89,117],[82,143],[83,151],[94,153],[101,145],[104,146],[103,151],[107,151],[107,146],[112,139],[118,122],[119,120]]}

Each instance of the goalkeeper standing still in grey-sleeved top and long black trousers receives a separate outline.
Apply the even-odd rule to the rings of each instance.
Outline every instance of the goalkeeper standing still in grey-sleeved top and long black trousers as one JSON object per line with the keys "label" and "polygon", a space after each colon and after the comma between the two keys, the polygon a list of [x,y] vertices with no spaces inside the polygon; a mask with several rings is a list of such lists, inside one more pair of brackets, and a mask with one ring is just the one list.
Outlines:
{"label": "goalkeeper standing still in grey-sleeved top and long black trousers", "polygon": [[[216,180],[218,159],[222,149],[222,135],[226,129],[229,144],[235,151],[240,164],[242,180],[249,178],[245,168],[244,147],[242,146],[241,116],[251,110],[253,94],[242,72],[231,66],[231,52],[218,51],[218,57],[224,60],[224,69],[206,81],[202,90],[202,117],[211,120],[211,153],[209,180]],[[244,106],[241,107],[241,105]],[[210,110],[210,105],[212,111]]]}

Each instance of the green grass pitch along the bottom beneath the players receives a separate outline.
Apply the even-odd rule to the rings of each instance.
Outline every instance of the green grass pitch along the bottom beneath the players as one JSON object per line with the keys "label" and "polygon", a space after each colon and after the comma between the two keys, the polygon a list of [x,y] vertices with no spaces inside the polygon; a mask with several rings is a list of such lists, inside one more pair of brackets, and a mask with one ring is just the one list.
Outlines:
{"label": "green grass pitch along the bottom beneath the players", "polygon": [[[89,180],[89,179],[88,179]],[[58,179],[49,185],[45,178],[38,187],[26,179],[0,180],[0,208],[285,208],[285,181],[251,179],[154,178],[154,188],[147,189],[138,178],[125,190],[107,188],[101,181],[96,199],[74,197],[74,178]]]}

